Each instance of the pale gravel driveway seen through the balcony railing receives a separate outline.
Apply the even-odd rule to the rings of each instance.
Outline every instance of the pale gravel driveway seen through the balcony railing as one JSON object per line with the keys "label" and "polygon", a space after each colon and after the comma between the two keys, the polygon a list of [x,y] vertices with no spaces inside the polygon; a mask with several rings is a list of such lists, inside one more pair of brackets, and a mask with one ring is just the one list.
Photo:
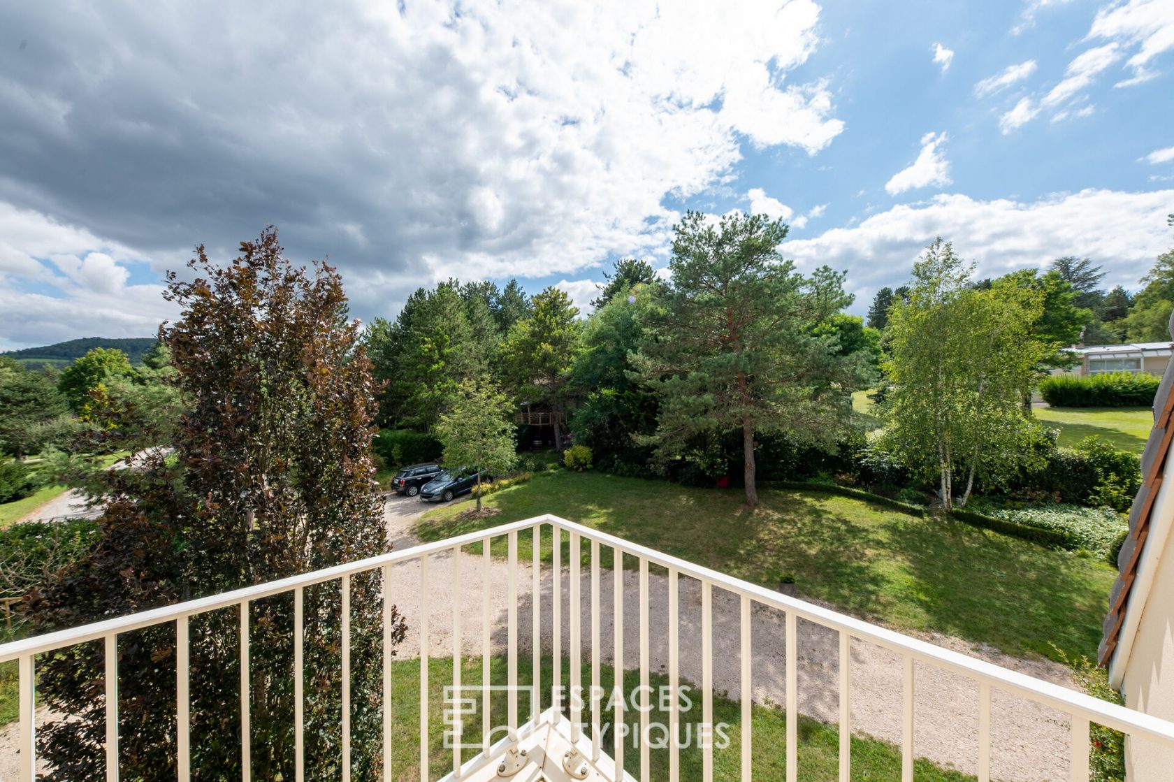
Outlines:
{"label": "pale gravel driveway seen through the balcony railing", "polygon": [[[384,518],[387,537],[397,550],[418,544],[412,526],[429,506],[417,499],[389,498]],[[528,564],[521,564],[518,579],[519,659],[528,665],[531,649],[532,575]],[[506,565],[492,560],[490,565],[491,653],[506,650]],[[461,555],[461,592],[453,591],[453,562],[450,553],[432,558],[429,567],[430,633],[433,656],[452,654],[452,606],[461,606],[463,648],[468,655],[481,653],[481,559]],[[582,573],[583,659],[589,660],[591,614],[589,571]],[[541,574],[542,648],[552,648],[549,568]],[[392,568],[399,611],[409,621],[409,634],[399,647],[402,659],[419,655],[420,568],[418,562]],[[600,589],[601,656],[610,663],[614,641],[612,636],[610,571],[603,573]],[[701,681],[701,591],[700,585],[682,578],[679,586],[681,676]],[[639,665],[640,606],[639,575],[626,572],[625,589],[625,667]],[[568,615],[569,572],[562,573],[562,615]],[[652,668],[664,672],[668,666],[668,579],[649,577],[649,653]],[[734,700],[741,699],[741,662],[738,599],[721,589],[714,591],[714,687]],[[754,646],[753,692],[755,701],[783,703],[785,697],[787,666],[784,658],[785,625],[782,614],[757,606],[751,615]],[[1071,687],[1068,669],[1050,661],[1027,661],[999,654],[987,648],[974,648],[959,639],[943,635],[923,635],[938,643],[972,656],[1006,666],[1033,676]],[[695,642],[689,642],[694,639]],[[798,702],[799,710],[825,721],[838,720],[839,650],[838,634],[814,623],[798,625]],[[562,628],[562,648],[571,646],[569,628]],[[851,720],[853,732],[877,736],[891,742],[900,741],[902,661],[891,652],[864,641],[851,647]],[[915,670],[915,736],[918,756],[942,764],[953,766],[974,774],[978,763],[978,685],[973,681],[918,663]],[[993,778],[1008,782],[1040,782],[1067,778],[1068,721],[1062,714],[1038,703],[1005,693],[992,694],[992,754]],[[41,715],[43,719],[43,713]],[[40,720],[39,720],[40,721]],[[0,730],[0,780],[15,778],[15,726]]]}

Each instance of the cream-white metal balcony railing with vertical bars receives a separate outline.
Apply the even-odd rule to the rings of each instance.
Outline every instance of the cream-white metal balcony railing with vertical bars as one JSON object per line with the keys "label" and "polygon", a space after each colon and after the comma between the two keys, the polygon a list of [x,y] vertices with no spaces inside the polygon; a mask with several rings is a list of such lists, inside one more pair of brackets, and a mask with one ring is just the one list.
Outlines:
{"label": "cream-white metal balcony railing with vertical bars", "polygon": [[[553,548],[551,551],[553,560],[553,574],[551,579],[551,593],[544,600],[541,587],[541,553],[542,532],[549,527],[553,532]],[[668,574],[668,679],[669,686],[675,688],[680,682],[680,643],[679,643],[679,605],[677,582],[682,577],[695,579],[701,585],[701,612],[702,612],[702,723],[713,724],[713,589],[717,587],[737,596],[740,614],[740,652],[741,652],[741,776],[744,782],[753,777],[753,735],[751,735],[751,699],[747,695],[751,692],[753,673],[753,648],[751,648],[751,609],[755,605],[767,606],[783,612],[785,615],[785,736],[787,736],[787,780],[795,782],[797,774],[797,750],[798,750],[798,687],[797,687],[797,620],[821,625],[838,632],[839,640],[839,778],[846,782],[850,778],[851,751],[850,751],[850,676],[849,676],[849,648],[852,639],[859,639],[876,643],[880,647],[898,653],[903,660],[903,688],[902,688],[902,767],[903,782],[911,782],[913,778],[913,663],[935,666],[956,674],[970,677],[978,682],[978,780],[989,782],[991,769],[991,694],[994,690],[1012,693],[1047,707],[1057,709],[1070,717],[1070,746],[1071,746],[1071,778],[1086,782],[1088,778],[1088,726],[1091,722],[1099,723],[1115,730],[1120,730],[1134,740],[1155,742],[1166,748],[1174,748],[1174,723],[1135,712],[1114,703],[1097,700],[1088,695],[1053,685],[1046,681],[1033,679],[999,666],[984,662],[966,655],[944,649],[925,641],[920,641],[893,631],[871,625],[826,608],[789,598],[770,589],[765,589],[738,579],[730,578],[716,571],[711,571],[691,562],[662,554],[645,546],[639,546],[614,535],[609,535],[595,530],[591,530],[579,524],[567,521],[553,515],[542,515],[526,519],[513,524],[505,524],[491,530],[473,532],[439,542],[426,544],[405,551],[391,552],[389,554],[373,557],[357,562],[339,565],[336,567],[305,573],[269,584],[237,589],[218,595],[191,600],[188,602],[146,611],[129,616],[110,619],[82,627],[49,633],[35,638],[0,645],[0,662],[15,660],[19,663],[20,679],[20,733],[19,733],[19,767],[21,782],[32,782],[36,763],[36,741],[34,730],[35,714],[35,681],[38,655],[52,653],[77,643],[101,639],[106,649],[106,682],[104,682],[104,709],[106,709],[106,757],[107,780],[114,782],[119,773],[119,720],[117,720],[117,639],[122,633],[141,629],[150,626],[174,623],[176,628],[176,766],[180,782],[188,782],[190,778],[190,713],[189,713],[189,673],[188,673],[188,622],[191,616],[203,614],[218,608],[237,606],[239,613],[239,643],[241,643],[241,747],[243,782],[249,782],[251,770],[250,760],[250,714],[249,714],[249,611],[251,601],[270,595],[292,593],[295,604],[294,620],[294,670],[295,675],[295,781],[304,782],[304,715],[303,715],[303,592],[306,587],[338,580],[342,582],[342,774],[344,782],[350,780],[350,702],[351,676],[350,676],[350,595],[349,586],[352,577],[372,571],[383,572],[384,584],[390,584],[391,567],[393,565],[418,561],[420,566],[420,613],[416,618],[420,629],[420,724],[419,724],[419,763],[420,780],[429,782],[429,666],[426,661],[432,649],[429,645],[429,600],[427,568],[430,559],[436,554],[451,553],[453,562],[452,579],[457,589],[453,591],[453,627],[452,627],[452,658],[453,658],[453,682],[460,685],[460,668],[463,659],[463,627],[459,601],[461,600],[461,557],[460,550],[464,546],[474,544],[483,545],[481,553],[481,647],[483,668],[481,681],[490,682],[490,656],[491,656],[491,621],[490,621],[490,567],[491,554],[490,542],[505,537],[507,539],[507,676],[508,676],[508,727],[512,730],[525,732],[532,729],[533,724],[520,726],[518,715],[518,537],[520,533],[531,532],[533,534],[533,562],[532,562],[532,594],[533,594],[533,622],[532,622],[532,652],[533,652],[533,688],[531,714],[541,715],[541,719],[549,720],[552,724],[558,724],[562,719],[561,688],[556,685],[564,681],[562,663],[562,608],[561,595],[561,544],[564,535],[569,542],[569,677],[572,693],[579,692],[581,665],[580,654],[582,650],[582,639],[580,638],[580,622],[582,620],[581,609],[581,547],[583,541],[591,546],[591,571],[589,571],[589,608],[591,612],[591,685],[593,693],[600,685],[601,667],[601,641],[600,641],[600,586],[602,577],[600,573],[600,554],[602,550],[610,548],[613,555],[613,612],[615,618],[623,616],[625,565],[629,564],[625,558],[636,560],[636,572],[639,578],[639,665],[640,665],[640,736],[639,741],[639,778],[649,778],[650,755],[649,755],[649,567],[657,566],[664,568]],[[394,595],[391,589],[384,588],[383,594],[383,778],[390,782],[393,769],[391,768],[392,756],[392,717],[387,705],[391,702],[391,612]],[[552,633],[552,667],[553,681],[551,682],[552,708],[541,712],[540,697],[540,667],[545,654],[541,643],[542,632],[542,604],[547,602],[551,611]],[[625,670],[623,660],[623,622],[616,619],[614,622],[614,668],[616,676]],[[481,719],[485,744],[483,751],[473,761],[464,762],[461,751],[453,749],[452,774],[447,778],[457,780],[467,776],[472,769],[486,763],[497,762],[495,757],[504,751],[502,742],[490,744],[490,694],[488,689],[483,689]],[[228,706],[228,705],[225,705]],[[576,697],[571,697],[569,706],[569,734],[571,741],[578,744],[583,737],[582,730],[582,702]],[[622,770],[625,767],[625,739],[620,732],[614,733],[612,756],[606,757],[601,746],[603,730],[601,729],[602,705],[599,699],[592,697],[589,703],[589,753],[591,760],[596,762],[599,769],[606,770],[605,776],[609,780],[630,778]],[[614,721],[619,724],[623,720],[623,705],[618,703]],[[669,706],[669,732],[677,735],[680,714],[676,699]],[[458,724],[459,733],[459,724]],[[714,742],[702,744],[702,775],[703,782],[711,782],[714,774]],[[681,763],[679,757],[679,742],[669,741],[669,778],[679,782],[681,775]]]}

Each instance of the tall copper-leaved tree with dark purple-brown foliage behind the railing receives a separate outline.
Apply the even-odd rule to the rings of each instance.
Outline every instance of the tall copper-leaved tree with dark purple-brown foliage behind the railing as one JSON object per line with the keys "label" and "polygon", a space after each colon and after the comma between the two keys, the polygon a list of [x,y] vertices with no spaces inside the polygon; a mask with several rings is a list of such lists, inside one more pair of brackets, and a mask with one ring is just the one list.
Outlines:
{"label": "tall copper-leaved tree with dark purple-brown foliage behind the railing", "polygon": [[[193,279],[169,274],[182,315],[161,328],[183,412],[170,454],[103,472],[106,510],[88,555],[28,599],[36,632],[143,611],[353,561],[386,548],[371,458],[378,384],[348,318],[338,274],[296,267],[276,229],[243,242],[231,263],[204,248]],[[383,625],[377,572],[351,580],[352,763],[382,766]],[[338,771],[340,585],[304,591],[305,773]],[[252,601],[251,764],[255,778],[294,778],[294,595]],[[241,775],[237,608],[190,620],[191,769]],[[392,614],[392,643],[405,625]],[[175,628],[119,639],[121,778],[175,775]],[[82,645],[39,661],[39,695],[72,715],[40,732],[50,780],[104,771],[103,652]],[[171,715],[170,717],[168,715]]]}

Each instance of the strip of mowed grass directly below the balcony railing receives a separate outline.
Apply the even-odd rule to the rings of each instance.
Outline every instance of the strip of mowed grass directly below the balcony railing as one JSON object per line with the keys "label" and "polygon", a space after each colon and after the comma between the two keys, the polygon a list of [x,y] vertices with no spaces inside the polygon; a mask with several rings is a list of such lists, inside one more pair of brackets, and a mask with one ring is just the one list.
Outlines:
{"label": "strip of mowed grass directly below the balcony railing", "polygon": [[[519,660],[518,680],[522,686],[533,682],[531,661],[528,655]],[[502,656],[492,658],[490,668],[490,681],[493,685],[504,685],[507,681],[506,660]],[[418,660],[405,660],[392,665],[392,778],[404,782],[412,782],[420,778],[419,775],[419,720],[420,720],[420,666]],[[591,683],[591,667],[582,667],[582,679],[585,685]],[[542,660],[541,674],[541,708],[551,706],[549,682],[552,679],[552,660],[549,655]],[[569,665],[562,665],[564,685],[569,687]],[[475,687],[481,682],[480,659],[467,659],[461,666],[463,687]],[[445,729],[443,699],[444,687],[452,683],[452,660],[431,660],[429,663],[429,776],[440,778],[452,769],[452,749],[444,747],[443,732]],[[609,666],[600,666],[600,686],[612,696],[615,685],[614,669]],[[640,685],[640,672],[627,670],[623,674],[620,692],[626,699],[625,720],[627,724],[627,741],[625,742],[623,766],[634,777],[640,777],[640,750],[633,747],[633,736],[639,735],[639,714],[633,708],[633,693],[637,692]],[[686,685],[686,682],[682,682]],[[660,674],[649,676],[649,686],[655,693],[661,687],[668,686],[668,677]],[[688,686],[688,685],[686,685]],[[681,713],[681,735],[687,746],[680,750],[681,778],[700,780],[702,777],[702,750],[697,744],[697,723],[701,721],[701,693],[697,687],[689,686],[688,697],[691,708]],[[466,697],[477,699],[480,708],[479,693],[463,693]],[[507,695],[505,692],[494,692],[491,699],[491,726],[500,724],[507,714]],[[585,693],[585,701],[587,700]],[[659,710],[657,695],[649,699],[653,706],[649,721],[667,724],[668,714]],[[614,702],[613,702],[614,703]],[[601,747],[609,755],[613,754],[613,742],[615,736],[615,710],[606,708],[601,710]],[[519,719],[527,720],[529,716],[529,695],[520,694],[518,703]],[[565,712],[569,716],[569,712]],[[480,744],[481,715],[467,715],[465,717],[464,736],[466,743]],[[591,717],[585,706],[583,721],[588,723],[585,733],[589,730]],[[741,706],[736,701],[714,697],[714,724],[724,723],[723,733],[728,736],[728,743],[714,747],[714,780],[734,782],[741,778],[741,751],[742,751],[742,720]],[[751,756],[756,778],[782,780],[785,778],[787,769],[787,715],[781,708],[774,706],[756,705],[751,710]],[[654,742],[664,736],[660,728],[653,728],[652,737]],[[494,739],[500,735],[494,736]],[[852,736],[852,780],[897,780],[900,778],[900,749],[885,741],[871,737]],[[724,742],[722,742],[724,743]],[[834,782],[839,778],[839,734],[838,727],[826,724],[799,716],[798,720],[798,762],[797,777],[801,782]],[[463,753],[463,761],[468,761],[475,755],[475,750],[466,749]],[[652,778],[668,778],[669,750],[668,748],[653,748],[649,751]],[[915,763],[918,782],[964,782],[973,780],[956,770],[944,769],[927,760],[918,759]]]}

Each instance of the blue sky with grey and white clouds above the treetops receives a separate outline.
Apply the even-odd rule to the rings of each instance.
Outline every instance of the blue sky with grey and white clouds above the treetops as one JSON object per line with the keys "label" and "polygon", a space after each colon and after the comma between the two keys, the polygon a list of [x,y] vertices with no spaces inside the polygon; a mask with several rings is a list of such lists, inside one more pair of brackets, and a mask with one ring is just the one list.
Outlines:
{"label": "blue sky with grey and white clouds above the treetops", "polygon": [[298,5],[0,6],[0,348],[150,336],[167,269],[269,223],[364,318],[586,303],[690,208],[785,217],[855,311],[938,234],[1131,289],[1174,243],[1169,0]]}

